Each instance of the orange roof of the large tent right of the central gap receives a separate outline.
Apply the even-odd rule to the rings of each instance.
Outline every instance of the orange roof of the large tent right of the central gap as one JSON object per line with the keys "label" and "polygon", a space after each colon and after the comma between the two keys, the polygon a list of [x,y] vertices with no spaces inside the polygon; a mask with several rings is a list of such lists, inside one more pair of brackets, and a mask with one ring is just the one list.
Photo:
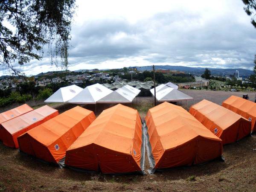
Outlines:
{"label": "orange roof of the large tent right of the central gap", "polygon": [[[149,111],[164,149],[186,143],[199,135],[209,140],[220,140],[180,106],[164,102]],[[181,132],[189,134],[180,134]]]}

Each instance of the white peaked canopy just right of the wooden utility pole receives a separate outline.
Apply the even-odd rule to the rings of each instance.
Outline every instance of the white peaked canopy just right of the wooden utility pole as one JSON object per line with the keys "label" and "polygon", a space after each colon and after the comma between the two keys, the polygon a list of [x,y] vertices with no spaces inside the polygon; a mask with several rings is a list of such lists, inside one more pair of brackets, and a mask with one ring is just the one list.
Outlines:
{"label": "white peaked canopy just right of the wooden utility pole", "polygon": [[[151,92],[152,93],[152,92]],[[152,95],[154,96],[154,89]],[[156,92],[156,99],[159,102],[177,102],[181,100],[193,99],[191,96],[182,93],[181,91],[168,87]]]}

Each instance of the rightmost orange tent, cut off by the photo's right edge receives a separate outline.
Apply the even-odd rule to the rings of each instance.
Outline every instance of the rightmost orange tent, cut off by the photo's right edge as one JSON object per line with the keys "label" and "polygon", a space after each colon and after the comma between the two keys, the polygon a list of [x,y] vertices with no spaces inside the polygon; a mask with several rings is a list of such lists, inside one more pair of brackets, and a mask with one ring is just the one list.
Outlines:
{"label": "rightmost orange tent, cut off by the photo's right edge", "polygon": [[230,96],[222,106],[251,121],[251,131],[256,131],[256,103],[241,97]]}

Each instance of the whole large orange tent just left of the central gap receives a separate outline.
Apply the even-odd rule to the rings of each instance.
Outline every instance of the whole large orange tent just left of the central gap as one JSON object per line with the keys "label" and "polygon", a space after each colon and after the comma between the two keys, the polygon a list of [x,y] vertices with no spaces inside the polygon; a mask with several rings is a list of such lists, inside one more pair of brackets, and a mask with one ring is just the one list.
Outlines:
{"label": "whole large orange tent just left of the central gap", "polygon": [[105,174],[142,172],[142,134],[138,111],[115,105],[104,110],[68,148],[65,164]]}

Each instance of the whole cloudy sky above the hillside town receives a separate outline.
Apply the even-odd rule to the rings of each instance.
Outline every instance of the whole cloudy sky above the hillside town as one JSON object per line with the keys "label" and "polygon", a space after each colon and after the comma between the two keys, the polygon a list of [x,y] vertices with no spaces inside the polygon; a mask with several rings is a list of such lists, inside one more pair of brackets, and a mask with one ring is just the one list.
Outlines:
{"label": "whole cloudy sky above the hillside town", "polygon": [[[256,29],[241,0],[77,0],[77,5],[69,70],[152,64],[253,68]],[[35,75],[60,69],[46,55],[20,70]]]}

